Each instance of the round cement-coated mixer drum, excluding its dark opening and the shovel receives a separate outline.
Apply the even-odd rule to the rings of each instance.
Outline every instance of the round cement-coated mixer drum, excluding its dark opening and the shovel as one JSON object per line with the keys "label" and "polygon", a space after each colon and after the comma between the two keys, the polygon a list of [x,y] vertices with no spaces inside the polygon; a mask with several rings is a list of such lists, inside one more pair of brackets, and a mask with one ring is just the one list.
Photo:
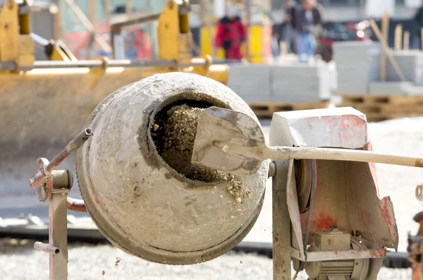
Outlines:
{"label": "round cement-coated mixer drum, excluding its dark opening and the shovel", "polygon": [[[200,75],[152,75],[106,97],[86,123],[94,135],[78,151],[87,211],[118,248],[164,264],[195,264],[231,250],[250,231],[264,198],[269,162],[231,181],[186,178],[166,164],[152,135],[175,105],[220,106],[257,119],[225,85]],[[258,123],[258,121],[257,121]],[[160,123],[159,123],[160,124]]]}

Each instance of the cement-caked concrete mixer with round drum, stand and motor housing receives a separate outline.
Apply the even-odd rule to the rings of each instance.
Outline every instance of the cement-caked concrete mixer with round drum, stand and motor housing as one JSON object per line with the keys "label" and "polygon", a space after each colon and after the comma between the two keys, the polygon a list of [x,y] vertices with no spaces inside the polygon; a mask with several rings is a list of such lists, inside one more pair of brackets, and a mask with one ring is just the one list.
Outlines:
{"label": "cement-caked concrete mixer with round drum, stand and motor housing", "polygon": [[[204,112],[212,108],[228,111],[214,115],[219,129],[204,125]],[[239,114],[256,128],[243,139],[243,129],[229,130],[229,144],[238,141],[250,149],[237,155],[213,139],[227,136],[241,119],[229,116]],[[231,156],[193,164],[197,133],[204,130],[212,135],[209,146]],[[352,108],[274,114],[271,146],[329,149],[333,159],[265,159],[254,154],[263,139],[243,99],[200,75],[152,75],[112,93],[57,157],[39,159],[30,178],[39,200],[49,202],[49,243],[35,248],[49,253],[50,278],[67,277],[66,209],[87,211],[104,236],[129,254],[162,264],[196,264],[228,252],[250,231],[271,177],[274,279],[290,279],[293,260],[295,271],[305,269],[313,280],[376,280],[387,248],[398,247],[393,205],[389,197],[379,197],[373,163],[338,157],[372,156],[364,114]],[[71,172],[55,170],[75,150],[83,201],[68,197]],[[243,157],[261,160],[243,165],[247,173],[214,168],[244,162]]]}

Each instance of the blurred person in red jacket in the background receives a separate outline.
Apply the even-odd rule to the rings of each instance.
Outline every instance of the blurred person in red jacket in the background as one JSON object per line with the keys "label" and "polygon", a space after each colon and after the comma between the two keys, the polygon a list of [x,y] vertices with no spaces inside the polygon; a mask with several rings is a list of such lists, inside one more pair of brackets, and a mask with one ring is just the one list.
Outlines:
{"label": "blurred person in red jacket in the background", "polygon": [[246,39],[245,27],[238,16],[237,8],[230,6],[227,16],[221,18],[217,25],[216,47],[225,50],[226,59],[241,60],[243,54],[241,54],[240,47]]}

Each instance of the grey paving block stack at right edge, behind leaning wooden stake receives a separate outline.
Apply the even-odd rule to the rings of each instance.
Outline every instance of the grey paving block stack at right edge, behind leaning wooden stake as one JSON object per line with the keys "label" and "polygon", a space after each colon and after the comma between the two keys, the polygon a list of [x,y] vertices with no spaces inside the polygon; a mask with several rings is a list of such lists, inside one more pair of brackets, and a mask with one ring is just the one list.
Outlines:
{"label": "grey paving block stack at right edge, behind leaning wooden stake", "polygon": [[[400,66],[408,82],[412,82],[414,85],[423,85],[422,51],[395,51],[393,57],[397,61],[398,66]],[[389,61],[386,63],[386,80],[392,82],[400,81],[400,77]]]}

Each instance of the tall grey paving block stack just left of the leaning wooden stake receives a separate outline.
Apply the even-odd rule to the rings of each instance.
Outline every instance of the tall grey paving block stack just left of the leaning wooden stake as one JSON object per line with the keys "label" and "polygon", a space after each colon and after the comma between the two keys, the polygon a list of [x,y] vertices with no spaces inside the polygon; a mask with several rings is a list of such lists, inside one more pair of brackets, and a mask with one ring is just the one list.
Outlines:
{"label": "tall grey paving block stack just left of the leaning wooden stake", "polygon": [[333,59],[338,70],[338,95],[365,95],[380,79],[381,45],[377,42],[336,42]]}

